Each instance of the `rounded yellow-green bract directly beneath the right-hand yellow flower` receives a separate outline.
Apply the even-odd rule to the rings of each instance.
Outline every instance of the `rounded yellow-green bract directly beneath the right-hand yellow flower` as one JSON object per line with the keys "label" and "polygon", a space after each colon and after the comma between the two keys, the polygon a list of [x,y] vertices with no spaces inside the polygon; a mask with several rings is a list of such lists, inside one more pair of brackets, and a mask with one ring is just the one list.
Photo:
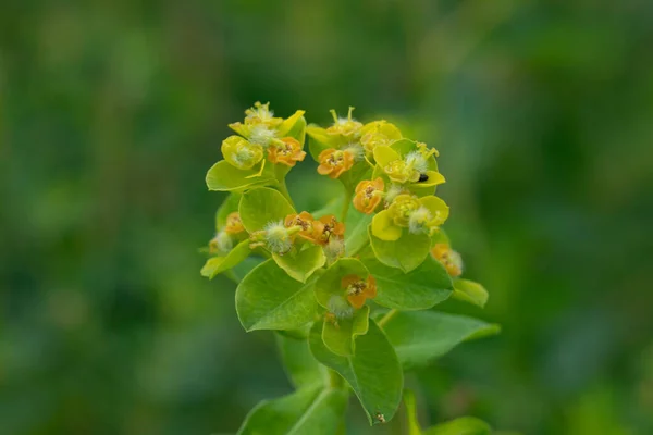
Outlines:
{"label": "rounded yellow-green bract directly beneath the right-hand yellow flower", "polygon": [[426,234],[411,234],[406,228],[402,236],[393,241],[374,237],[369,229],[370,241],[374,256],[385,265],[410,272],[419,266],[429,256],[431,240]]}

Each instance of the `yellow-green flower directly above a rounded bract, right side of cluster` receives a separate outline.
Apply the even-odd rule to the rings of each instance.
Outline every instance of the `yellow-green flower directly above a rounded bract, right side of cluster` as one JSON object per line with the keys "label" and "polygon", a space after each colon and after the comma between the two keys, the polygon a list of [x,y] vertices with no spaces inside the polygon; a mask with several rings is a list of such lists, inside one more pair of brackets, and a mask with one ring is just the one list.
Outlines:
{"label": "yellow-green flower directly above a rounded bract, right side of cluster", "polygon": [[430,234],[448,217],[448,207],[434,196],[418,198],[399,195],[372,219],[372,234],[381,240],[402,237],[404,228],[412,234]]}

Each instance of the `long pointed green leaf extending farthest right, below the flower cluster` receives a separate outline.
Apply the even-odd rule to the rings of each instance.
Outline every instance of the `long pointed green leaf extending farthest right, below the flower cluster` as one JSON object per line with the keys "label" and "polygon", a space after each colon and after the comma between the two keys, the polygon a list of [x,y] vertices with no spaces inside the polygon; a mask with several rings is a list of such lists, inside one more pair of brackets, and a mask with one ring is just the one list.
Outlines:
{"label": "long pointed green leaf extending farthest right, below the flower cluster", "polygon": [[438,311],[399,311],[383,327],[405,369],[426,365],[472,338],[496,334],[498,325]]}

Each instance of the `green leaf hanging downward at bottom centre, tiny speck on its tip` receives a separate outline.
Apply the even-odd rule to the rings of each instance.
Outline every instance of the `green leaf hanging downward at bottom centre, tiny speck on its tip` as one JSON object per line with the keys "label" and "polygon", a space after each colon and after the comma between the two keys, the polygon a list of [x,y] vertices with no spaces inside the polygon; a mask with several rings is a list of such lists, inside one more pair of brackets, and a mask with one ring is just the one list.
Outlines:
{"label": "green leaf hanging downward at bottom centre, tiny speck on its tip", "polygon": [[324,346],[320,323],[311,328],[309,345],[318,361],[349,383],[370,424],[394,417],[402,400],[404,374],[392,345],[374,322],[370,322],[366,335],[356,339],[356,349],[350,357],[335,355]]}

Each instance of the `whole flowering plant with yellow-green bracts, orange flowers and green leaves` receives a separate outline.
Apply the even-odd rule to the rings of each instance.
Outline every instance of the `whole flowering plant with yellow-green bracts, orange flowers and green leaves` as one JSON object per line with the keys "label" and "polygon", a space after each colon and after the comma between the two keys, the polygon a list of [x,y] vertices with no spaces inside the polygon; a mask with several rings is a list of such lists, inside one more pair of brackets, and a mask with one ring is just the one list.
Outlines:
{"label": "whole flowering plant with yellow-green bracts, orange flowers and green leaves", "polygon": [[[275,117],[257,102],[230,124],[237,135],[207,174],[210,190],[230,195],[201,274],[238,283],[241,323],[276,332],[296,387],[259,403],[238,433],[342,433],[350,393],[372,425],[389,422],[404,400],[410,435],[489,433],[473,418],[422,432],[404,389],[405,371],[497,332],[432,310],[449,297],[480,307],[488,299],[480,284],[460,278],[463,261],[442,228],[449,209],[435,196],[445,181],[438,151],[386,121],[357,122],[352,111],[332,111],[334,123],[322,128],[307,126],[304,111]],[[306,135],[318,173],[342,182],[344,202],[295,209],[285,176],[306,158]]]}

